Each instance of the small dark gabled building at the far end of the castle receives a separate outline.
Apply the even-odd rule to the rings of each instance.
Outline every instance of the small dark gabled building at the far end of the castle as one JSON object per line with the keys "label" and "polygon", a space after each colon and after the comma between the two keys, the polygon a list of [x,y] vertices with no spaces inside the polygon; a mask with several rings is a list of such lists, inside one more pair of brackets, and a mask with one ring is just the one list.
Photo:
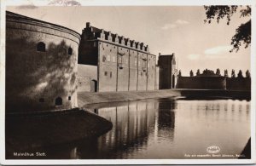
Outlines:
{"label": "small dark gabled building at the far end of the castle", "polygon": [[174,54],[159,54],[159,89],[174,89],[177,84],[177,69]]}

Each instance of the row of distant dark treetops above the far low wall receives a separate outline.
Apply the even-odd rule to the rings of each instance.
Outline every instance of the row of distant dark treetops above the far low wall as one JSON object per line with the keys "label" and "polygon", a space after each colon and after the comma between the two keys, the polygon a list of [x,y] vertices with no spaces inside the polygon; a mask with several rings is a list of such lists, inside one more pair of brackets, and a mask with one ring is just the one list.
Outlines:
{"label": "row of distant dark treetops above the far low wall", "polygon": [[[182,77],[182,72],[181,72],[181,70],[179,70],[178,71],[178,75],[177,75],[178,77]],[[195,75],[194,75],[194,72],[191,70],[190,72],[189,72],[189,76],[190,77],[194,77],[194,76],[208,76],[208,77],[221,77],[222,75],[221,75],[221,73],[220,73],[220,70],[219,69],[217,69],[216,70],[216,72],[213,72],[212,70],[208,70],[208,69],[205,69],[205,70],[203,70],[203,72],[200,72],[200,70],[199,69],[197,69],[197,71],[196,71],[196,73],[195,73]],[[228,70],[224,70],[224,75],[223,75],[224,77],[229,77],[229,73],[228,73]],[[236,72],[235,72],[235,70],[234,69],[232,69],[232,71],[231,71],[231,76],[230,77],[236,77]],[[242,74],[242,72],[241,72],[241,70],[239,70],[239,72],[237,73],[237,77],[244,77],[243,76],[243,74]],[[247,77],[247,78],[250,78],[251,77],[251,73],[247,70],[246,71],[246,73],[245,73],[245,77]]]}

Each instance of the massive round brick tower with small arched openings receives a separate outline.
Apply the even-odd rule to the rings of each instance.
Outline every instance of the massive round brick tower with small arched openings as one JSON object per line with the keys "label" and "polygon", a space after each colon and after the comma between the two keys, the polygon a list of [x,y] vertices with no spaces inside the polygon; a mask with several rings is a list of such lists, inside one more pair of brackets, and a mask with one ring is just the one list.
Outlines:
{"label": "massive round brick tower with small arched openings", "polygon": [[6,12],[6,112],[71,109],[77,103],[76,31]]}

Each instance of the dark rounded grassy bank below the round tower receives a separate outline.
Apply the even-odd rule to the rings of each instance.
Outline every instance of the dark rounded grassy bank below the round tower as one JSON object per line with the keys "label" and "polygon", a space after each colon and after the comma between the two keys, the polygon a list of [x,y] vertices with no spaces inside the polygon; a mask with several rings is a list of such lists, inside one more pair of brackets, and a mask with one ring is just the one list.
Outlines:
{"label": "dark rounded grassy bank below the round tower", "polygon": [[67,112],[6,116],[6,150],[32,152],[39,146],[50,146],[90,138],[112,129],[112,123],[96,114],[73,109]]}

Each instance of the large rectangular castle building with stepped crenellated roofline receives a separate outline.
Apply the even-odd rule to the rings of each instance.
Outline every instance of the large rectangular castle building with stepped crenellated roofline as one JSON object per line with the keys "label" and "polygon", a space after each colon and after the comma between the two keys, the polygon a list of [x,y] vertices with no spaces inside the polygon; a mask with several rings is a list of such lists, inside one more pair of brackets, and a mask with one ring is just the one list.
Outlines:
{"label": "large rectangular castle building with stepped crenellated roofline", "polygon": [[154,90],[155,64],[156,56],[149,53],[148,45],[86,23],[79,66],[96,66],[95,91]]}

